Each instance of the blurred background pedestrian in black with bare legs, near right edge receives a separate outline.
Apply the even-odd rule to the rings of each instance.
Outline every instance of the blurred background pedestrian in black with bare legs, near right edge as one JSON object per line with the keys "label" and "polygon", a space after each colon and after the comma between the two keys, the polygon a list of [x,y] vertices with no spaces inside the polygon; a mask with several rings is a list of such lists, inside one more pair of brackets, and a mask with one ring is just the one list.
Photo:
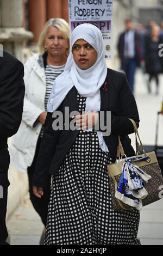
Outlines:
{"label": "blurred background pedestrian in black with bare legs, near right edge", "polygon": [[160,36],[160,28],[153,26],[151,34],[146,36],[145,39],[145,68],[147,74],[149,74],[148,88],[151,93],[151,81],[155,80],[156,90],[155,93],[159,93],[159,74],[163,72],[163,60],[159,56],[159,45],[163,43]]}

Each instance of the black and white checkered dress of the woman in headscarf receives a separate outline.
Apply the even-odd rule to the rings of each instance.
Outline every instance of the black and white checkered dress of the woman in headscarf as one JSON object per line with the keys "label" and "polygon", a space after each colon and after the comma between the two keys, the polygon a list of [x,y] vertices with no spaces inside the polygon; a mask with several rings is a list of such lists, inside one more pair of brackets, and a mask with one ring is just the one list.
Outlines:
{"label": "black and white checkered dress of the woman in headscarf", "polygon": [[[78,94],[81,113],[85,99]],[[112,209],[108,163],[97,133],[80,131],[53,177],[45,245],[140,245],[139,211]]]}

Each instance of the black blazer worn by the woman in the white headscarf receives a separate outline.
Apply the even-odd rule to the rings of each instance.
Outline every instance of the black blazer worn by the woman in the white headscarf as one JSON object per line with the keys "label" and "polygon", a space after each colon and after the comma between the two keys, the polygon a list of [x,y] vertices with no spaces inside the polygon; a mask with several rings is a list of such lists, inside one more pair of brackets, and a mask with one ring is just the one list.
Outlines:
{"label": "black blazer worn by the woman in the white headscarf", "polygon": [[[126,155],[135,155],[128,137],[128,134],[133,133],[134,129],[128,118],[134,119],[139,126],[139,114],[134,95],[123,73],[108,69],[105,82],[107,84],[103,84],[101,87],[101,111],[105,111],[105,113],[111,111],[111,134],[105,136],[104,140],[111,154],[112,162],[114,162],[118,145],[117,135],[121,135]],[[70,112],[79,111],[75,87],[66,95],[57,110],[63,112],[65,107],[69,107]],[[52,114],[47,113],[41,148],[36,162],[33,185],[38,187],[46,187],[48,173],[55,174],[57,172],[79,133],[78,130],[54,131]]]}

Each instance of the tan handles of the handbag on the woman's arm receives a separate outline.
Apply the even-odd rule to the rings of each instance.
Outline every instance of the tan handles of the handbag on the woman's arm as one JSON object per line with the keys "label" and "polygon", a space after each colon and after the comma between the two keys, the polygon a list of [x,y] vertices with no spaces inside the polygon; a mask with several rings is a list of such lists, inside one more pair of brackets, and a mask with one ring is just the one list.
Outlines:
{"label": "tan handles of the handbag on the woman's arm", "polygon": [[[136,123],[133,119],[130,119],[129,120],[131,121],[131,123],[133,124],[134,126],[134,131],[135,131],[135,144],[136,144],[136,154],[140,155],[140,151],[139,151],[139,142],[140,142],[140,145],[141,145],[141,148],[142,148],[142,151],[143,151],[143,154],[145,156],[146,155],[146,152],[145,152],[145,149],[143,148],[143,145],[142,145],[142,142],[141,142],[141,139],[140,139],[140,136],[139,136],[139,132],[137,131],[137,126],[136,126]],[[137,137],[139,138],[139,142],[137,141]],[[123,146],[122,146],[122,143],[121,143],[121,140],[120,140],[120,135],[118,135],[118,147],[117,147],[117,158],[119,157],[120,158],[120,154],[121,156],[125,156],[127,158],[127,156],[124,154],[124,150],[123,150]]]}

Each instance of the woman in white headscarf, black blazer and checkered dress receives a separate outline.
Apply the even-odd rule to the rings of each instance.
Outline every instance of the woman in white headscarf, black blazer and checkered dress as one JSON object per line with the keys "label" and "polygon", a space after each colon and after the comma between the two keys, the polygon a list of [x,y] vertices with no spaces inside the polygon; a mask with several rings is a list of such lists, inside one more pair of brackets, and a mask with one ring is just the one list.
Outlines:
{"label": "woman in white headscarf, black blazer and checkered dress", "polygon": [[45,245],[140,245],[139,211],[112,209],[106,169],[116,159],[117,135],[126,155],[135,155],[128,118],[138,126],[126,76],[107,69],[101,31],[88,23],[79,25],[48,101],[33,179],[34,194],[41,198],[48,173],[53,175]]}

